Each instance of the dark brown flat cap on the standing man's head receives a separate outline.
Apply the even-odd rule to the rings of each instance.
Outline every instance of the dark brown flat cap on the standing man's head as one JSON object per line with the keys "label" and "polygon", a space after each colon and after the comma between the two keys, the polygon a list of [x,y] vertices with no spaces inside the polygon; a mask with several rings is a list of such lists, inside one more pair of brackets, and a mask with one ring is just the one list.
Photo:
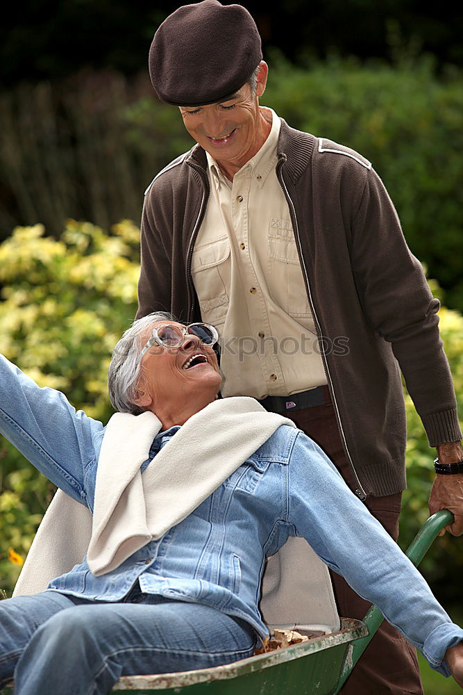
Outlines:
{"label": "dark brown flat cap on the standing man's head", "polygon": [[203,0],[162,22],[149,49],[149,75],[161,101],[203,106],[237,92],[261,60],[260,35],[248,10]]}

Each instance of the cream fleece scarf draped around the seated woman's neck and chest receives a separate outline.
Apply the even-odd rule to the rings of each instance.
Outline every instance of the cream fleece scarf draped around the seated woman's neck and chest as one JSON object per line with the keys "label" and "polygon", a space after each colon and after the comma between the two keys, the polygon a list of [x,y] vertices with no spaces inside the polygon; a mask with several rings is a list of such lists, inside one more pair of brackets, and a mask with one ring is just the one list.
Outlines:
{"label": "cream fleece scarf draped around the seated woman's neck and chest", "polygon": [[160,420],[151,412],[112,416],[96,473],[87,552],[92,573],[116,569],[183,521],[280,425],[295,427],[254,398],[215,400],[186,421],[142,474]]}

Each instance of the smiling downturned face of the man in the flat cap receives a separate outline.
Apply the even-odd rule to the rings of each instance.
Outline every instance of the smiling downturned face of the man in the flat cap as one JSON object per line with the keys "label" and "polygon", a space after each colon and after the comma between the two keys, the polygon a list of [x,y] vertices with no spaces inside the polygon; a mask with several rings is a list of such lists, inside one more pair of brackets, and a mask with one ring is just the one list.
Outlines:
{"label": "smiling downturned face of the man in the flat cap", "polygon": [[253,94],[245,84],[232,98],[206,106],[180,106],[185,128],[224,170],[235,173],[262,146],[266,122],[259,111],[267,81],[267,65],[260,63],[258,85]]}

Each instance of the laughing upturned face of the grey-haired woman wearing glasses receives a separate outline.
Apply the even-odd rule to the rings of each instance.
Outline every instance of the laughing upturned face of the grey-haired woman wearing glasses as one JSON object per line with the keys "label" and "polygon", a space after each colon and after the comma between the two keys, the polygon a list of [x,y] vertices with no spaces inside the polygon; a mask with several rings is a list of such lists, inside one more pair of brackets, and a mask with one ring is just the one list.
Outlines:
{"label": "laughing upturned face of the grey-haired woman wearing glasses", "polygon": [[[158,321],[146,330],[146,343],[153,328],[162,325],[183,324]],[[200,356],[203,357],[200,357]],[[197,356],[190,363],[190,358]],[[143,355],[140,379],[137,384],[137,404],[153,410],[163,425],[183,424],[186,411],[199,411],[212,402],[219,391],[221,375],[217,357],[209,345],[203,345],[197,336],[185,335],[180,347],[169,349],[153,345]]]}

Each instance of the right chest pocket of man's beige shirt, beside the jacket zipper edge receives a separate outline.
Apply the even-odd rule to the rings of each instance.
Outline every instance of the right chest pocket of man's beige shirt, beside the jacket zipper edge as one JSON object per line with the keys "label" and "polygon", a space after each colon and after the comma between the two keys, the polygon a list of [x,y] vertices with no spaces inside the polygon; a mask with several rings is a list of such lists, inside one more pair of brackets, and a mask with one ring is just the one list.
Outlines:
{"label": "right chest pocket of man's beige shirt, beside the jacket zipper edge", "polygon": [[267,268],[273,301],[289,316],[310,316],[301,262],[289,220],[271,220],[267,234]]}

